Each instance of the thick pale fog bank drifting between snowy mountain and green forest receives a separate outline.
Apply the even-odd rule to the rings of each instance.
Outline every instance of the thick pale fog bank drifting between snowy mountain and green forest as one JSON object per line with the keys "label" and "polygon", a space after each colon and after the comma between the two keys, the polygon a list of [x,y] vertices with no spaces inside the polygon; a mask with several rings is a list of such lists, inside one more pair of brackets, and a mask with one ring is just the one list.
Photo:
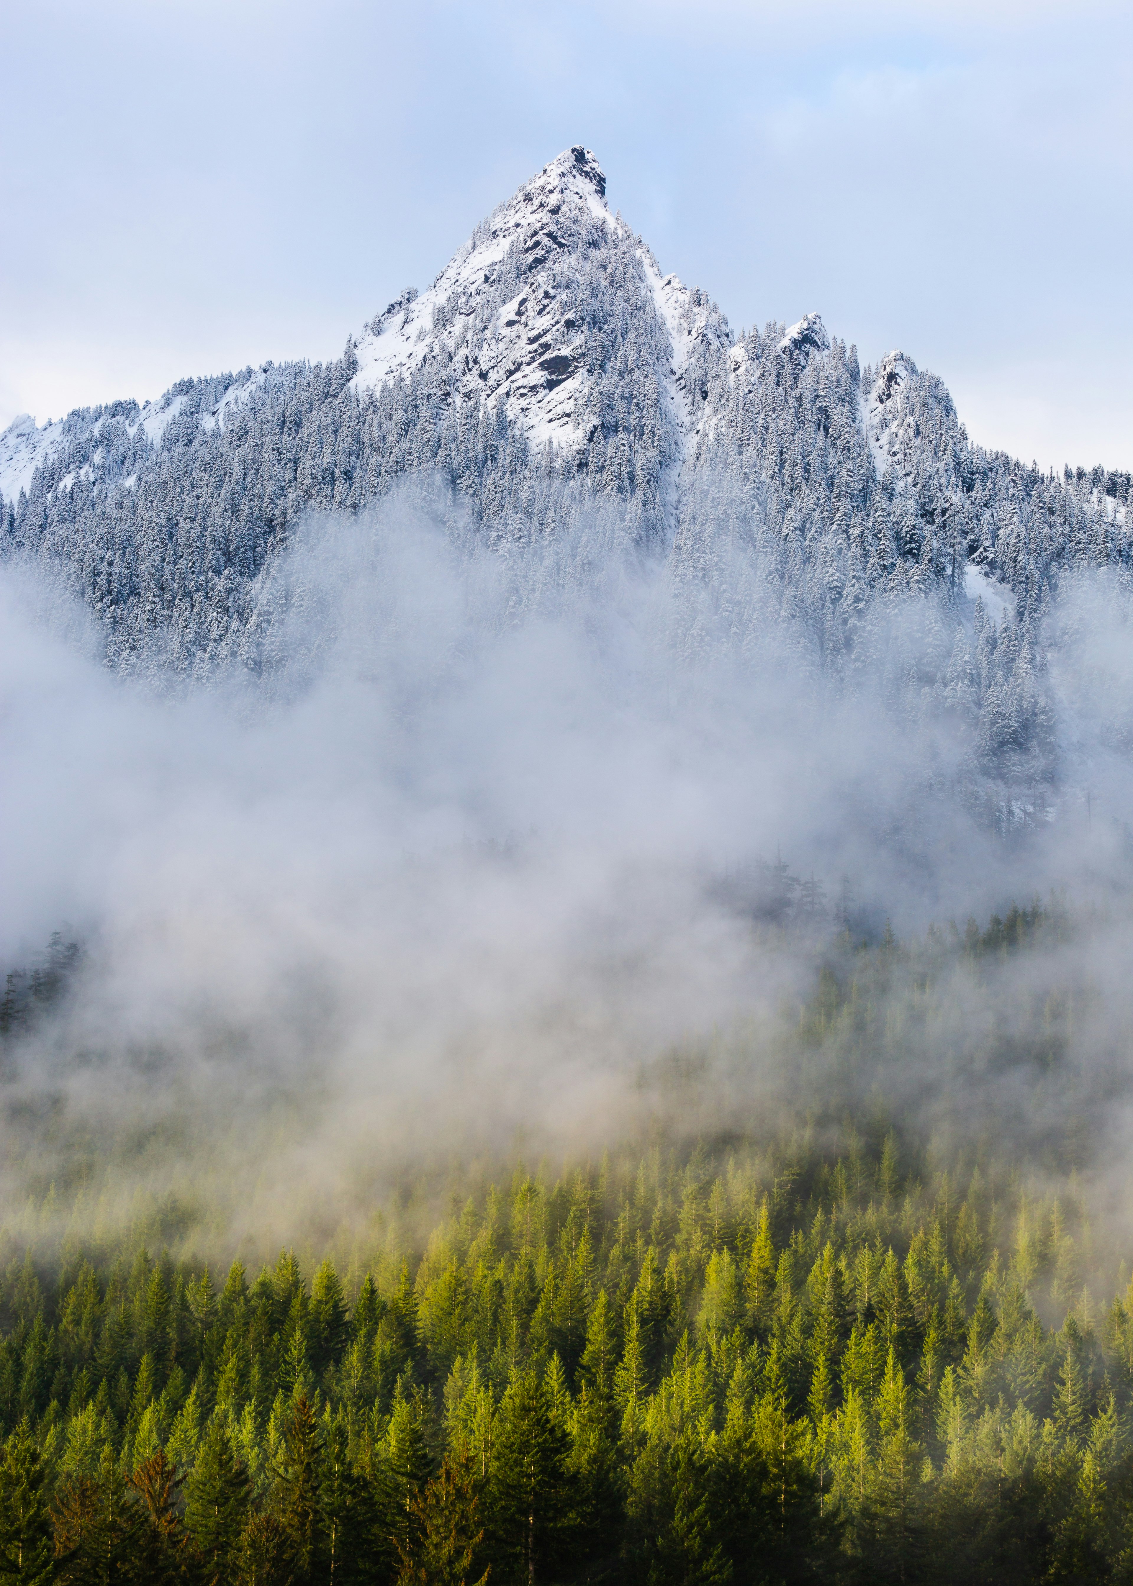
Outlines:
{"label": "thick pale fog bank drifting between snowy mountain and green forest", "polygon": [[263,674],[157,691],[27,571],[0,585],[0,955],[84,947],[6,1082],[8,1216],[113,1164],[122,1207],[176,1190],[216,1237],[282,1239],[416,1161],[601,1148],[657,1109],[643,1072],[736,1028],[697,1128],[771,1118],[784,1009],[843,925],[1057,885],[1123,917],[1120,607],[1065,625],[1055,669],[1104,799],[1049,788],[1004,842],[955,723],[884,698],[925,611],[832,684],[614,520],[505,557],[406,498],[313,523],[270,579]]}

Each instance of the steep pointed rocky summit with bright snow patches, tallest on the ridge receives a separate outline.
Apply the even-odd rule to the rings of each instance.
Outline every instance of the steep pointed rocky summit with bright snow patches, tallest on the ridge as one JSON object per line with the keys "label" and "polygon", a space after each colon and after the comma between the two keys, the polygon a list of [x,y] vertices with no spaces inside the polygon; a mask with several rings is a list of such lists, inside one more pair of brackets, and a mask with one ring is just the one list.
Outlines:
{"label": "steep pointed rocky summit with bright snow patches, tallest on the ridge", "polygon": [[[614,347],[595,346],[600,328],[613,330]],[[730,343],[719,309],[662,276],[641,238],[609,214],[606,178],[576,147],[478,227],[425,293],[406,290],[367,325],[352,385],[373,392],[433,365],[457,401],[490,403],[533,450],[576,465],[603,428],[603,396],[624,393],[632,417],[627,425],[619,414],[619,435],[676,484],[693,435],[693,355]],[[611,351],[614,381],[603,390],[593,374]]]}

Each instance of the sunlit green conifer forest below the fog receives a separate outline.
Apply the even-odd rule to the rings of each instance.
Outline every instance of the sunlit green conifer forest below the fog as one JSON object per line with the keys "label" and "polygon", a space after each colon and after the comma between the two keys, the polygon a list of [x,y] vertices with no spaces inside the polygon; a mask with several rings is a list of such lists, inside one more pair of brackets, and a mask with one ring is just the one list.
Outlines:
{"label": "sunlit green conifer forest below the fog", "polygon": [[[173,1202],[98,1232],[90,1185],[32,1194],[0,1289],[5,1575],[1127,1580],[1133,1251],[1095,1221],[1073,1072],[1097,994],[1046,985],[955,1055],[979,1132],[903,1118],[892,1083],[960,988],[1079,928],[1052,899],[846,931],[779,1034],[789,1105],[422,1170],[275,1259],[195,1256]],[[68,994],[75,955],[49,963],[10,982],[11,1063]],[[687,1107],[706,1061],[649,1083]]]}

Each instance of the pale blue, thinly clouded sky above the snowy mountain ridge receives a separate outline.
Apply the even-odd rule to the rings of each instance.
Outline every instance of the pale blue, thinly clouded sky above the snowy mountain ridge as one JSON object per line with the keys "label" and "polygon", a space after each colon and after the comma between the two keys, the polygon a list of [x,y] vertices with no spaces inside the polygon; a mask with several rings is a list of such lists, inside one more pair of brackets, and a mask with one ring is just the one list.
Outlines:
{"label": "pale blue, thinly clouded sky above the snowy mountain ridge", "polygon": [[1133,468],[1133,8],[0,3],[0,425],[328,357],[571,143],[736,327]]}

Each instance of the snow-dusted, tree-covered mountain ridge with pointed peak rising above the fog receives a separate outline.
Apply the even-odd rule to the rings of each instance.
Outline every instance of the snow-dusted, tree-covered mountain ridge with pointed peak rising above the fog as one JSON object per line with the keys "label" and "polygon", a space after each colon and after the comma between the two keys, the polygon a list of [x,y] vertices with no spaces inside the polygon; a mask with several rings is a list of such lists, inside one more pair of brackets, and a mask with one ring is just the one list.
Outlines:
{"label": "snow-dusted, tree-covered mountain ridge with pointed peak rising above the fog", "polygon": [[920,601],[927,639],[893,663],[906,707],[963,717],[985,769],[1052,774],[1044,623],[1068,576],[1128,568],[1130,476],[973,446],[941,381],[901,352],[862,370],[817,314],[736,336],[605,190],[565,151],[333,363],[17,419],[0,555],[62,577],[113,666],[257,672],[300,519],[406,477],[440,481],[489,546],[614,511],[678,582],[727,584],[736,631],[790,630],[832,677]]}

